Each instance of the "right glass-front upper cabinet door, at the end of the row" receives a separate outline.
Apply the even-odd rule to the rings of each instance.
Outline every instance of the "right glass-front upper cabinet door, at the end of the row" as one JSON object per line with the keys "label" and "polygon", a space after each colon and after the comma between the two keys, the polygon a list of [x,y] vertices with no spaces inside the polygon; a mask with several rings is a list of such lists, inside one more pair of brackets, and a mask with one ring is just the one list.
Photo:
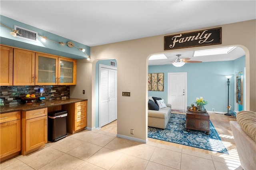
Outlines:
{"label": "right glass-front upper cabinet door, at the end of the row", "polygon": [[76,60],[59,57],[58,85],[76,85]]}

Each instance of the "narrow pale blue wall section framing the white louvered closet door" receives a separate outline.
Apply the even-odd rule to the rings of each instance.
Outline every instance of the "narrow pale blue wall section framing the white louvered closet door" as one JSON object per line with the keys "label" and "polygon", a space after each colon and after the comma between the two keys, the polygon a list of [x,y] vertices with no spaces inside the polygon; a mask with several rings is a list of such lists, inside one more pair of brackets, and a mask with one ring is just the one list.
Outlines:
{"label": "narrow pale blue wall section framing the white louvered closet door", "polygon": [[[96,70],[95,70],[95,128],[99,127],[99,65],[108,65],[110,66],[110,61],[116,62],[116,59],[106,59],[106,60],[99,60],[96,63]],[[117,62],[116,62],[117,67]]]}

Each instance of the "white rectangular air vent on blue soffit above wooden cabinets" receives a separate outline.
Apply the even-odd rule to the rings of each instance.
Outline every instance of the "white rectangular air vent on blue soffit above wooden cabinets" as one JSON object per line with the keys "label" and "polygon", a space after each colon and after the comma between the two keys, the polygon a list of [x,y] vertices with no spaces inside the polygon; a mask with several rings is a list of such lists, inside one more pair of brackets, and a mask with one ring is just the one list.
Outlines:
{"label": "white rectangular air vent on blue soffit above wooden cabinets", "polygon": [[18,30],[19,33],[21,34],[17,34],[18,38],[22,38],[25,40],[30,40],[33,42],[37,42],[37,38],[38,38],[38,32],[32,31],[32,30],[28,30],[26,28],[22,28],[20,26],[14,26],[15,30]]}

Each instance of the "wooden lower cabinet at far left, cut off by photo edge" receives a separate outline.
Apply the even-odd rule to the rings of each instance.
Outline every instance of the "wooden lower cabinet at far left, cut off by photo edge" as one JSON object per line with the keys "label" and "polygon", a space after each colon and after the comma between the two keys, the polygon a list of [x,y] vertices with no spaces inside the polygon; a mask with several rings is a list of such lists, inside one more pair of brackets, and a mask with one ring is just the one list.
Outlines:
{"label": "wooden lower cabinet at far left, cut off by photo edge", "polygon": [[0,114],[0,160],[20,154],[20,111]]}

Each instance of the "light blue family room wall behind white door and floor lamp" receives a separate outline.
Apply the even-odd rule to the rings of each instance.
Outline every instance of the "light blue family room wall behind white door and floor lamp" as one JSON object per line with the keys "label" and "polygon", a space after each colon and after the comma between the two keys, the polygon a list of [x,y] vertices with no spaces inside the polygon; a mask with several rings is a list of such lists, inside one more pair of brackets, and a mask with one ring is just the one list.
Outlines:
{"label": "light blue family room wall behind white door and floor lamp", "polygon": [[[228,86],[224,75],[234,75],[235,64],[245,67],[245,57],[240,57],[234,61],[215,61],[203,63],[186,63],[182,67],[171,65],[150,65],[148,73],[164,73],[164,91],[148,91],[148,96],[161,97],[167,103],[168,73],[186,72],[187,73],[187,101],[188,106],[196,100],[196,97],[204,97],[208,101],[206,109],[216,112],[227,112],[228,106]],[[243,70],[243,69],[242,69]],[[229,105],[232,107],[234,101],[233,76],[230,79]]]}

